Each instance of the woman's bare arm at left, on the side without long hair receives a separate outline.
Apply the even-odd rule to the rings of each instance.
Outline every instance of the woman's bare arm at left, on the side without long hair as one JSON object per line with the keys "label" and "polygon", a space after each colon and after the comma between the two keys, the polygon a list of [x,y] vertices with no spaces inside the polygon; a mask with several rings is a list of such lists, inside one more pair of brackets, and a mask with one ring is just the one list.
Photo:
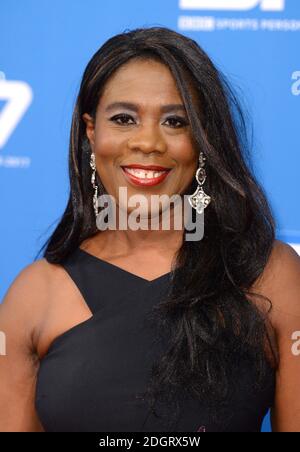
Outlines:
{"label": "woman's bare arm at left, on the side without long hair", "polygon": [[20,272],[0,304],[0,431],[39,432],[35,411],[35,352],[47,296],[44,261]]}

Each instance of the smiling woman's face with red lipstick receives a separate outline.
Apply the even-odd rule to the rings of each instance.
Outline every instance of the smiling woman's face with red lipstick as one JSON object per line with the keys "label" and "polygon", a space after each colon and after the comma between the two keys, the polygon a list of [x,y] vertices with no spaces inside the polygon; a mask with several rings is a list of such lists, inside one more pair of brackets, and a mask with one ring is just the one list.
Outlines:
{"label": "smiling woman's face with red lipstick", "polygon": [[[120,187],[127,188],[128,198],[144,195],[151,210],[151,195],[171,197],[191,184],[198,156],[181,96],[164,64],[131,60],[121,66],[104,87],[95,122],[86,113],[83,119],[98,175],[107,193],[128,213],[131,208],[119,200]],[[128,171],[130,165],[168,171]]]}

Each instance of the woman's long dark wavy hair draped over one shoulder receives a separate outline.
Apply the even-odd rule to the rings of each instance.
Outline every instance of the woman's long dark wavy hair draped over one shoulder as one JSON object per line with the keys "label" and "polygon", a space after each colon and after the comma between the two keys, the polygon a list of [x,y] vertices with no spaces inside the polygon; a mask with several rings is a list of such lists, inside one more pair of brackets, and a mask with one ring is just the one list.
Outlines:
{"label": "woman's long dark wavy hair draped over one shoulder", "polygon": [[[158,332],[167,332],[168,346],[153,364],[149,387],[142,396],[149,399],[154,414],[155,400],[173,403],[183,391],[216,407],[217,401],[226,400],[232,368],[241,359],[250,360],[257,387],[263,384],[271,362],[276,366],[268,328],[271,300],[251,292],[270,256],[275,222],[253,174],[246,109],[222,71],[194,40],[168,28],[138,28],[112,37],[93,55],[72,117],[70,197],[39,253],[43,250],[49,262],[60,263],[84,239],[99,233],[82,115],[87,112],[95,118],[105,82],[133,58],[160,61],[173,74],[195,147],[206,156],[205,188],[212,198],[205,210],[204,237],[183,241],[168,294],[153,310]],[[194,180],[190,193],[195,184]],[[267,309],[254,298],[266,301]],[[267,350],[272,352],[268,353],[271,359]]]}

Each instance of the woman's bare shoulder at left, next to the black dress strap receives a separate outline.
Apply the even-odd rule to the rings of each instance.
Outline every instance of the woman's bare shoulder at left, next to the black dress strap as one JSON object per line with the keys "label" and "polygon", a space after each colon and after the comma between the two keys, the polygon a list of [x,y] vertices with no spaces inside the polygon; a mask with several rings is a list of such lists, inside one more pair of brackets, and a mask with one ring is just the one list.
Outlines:
{"label": "woman's bare shoulder at left, next to the black dress strap", "polygon": [[91,315],[64,266],[43,258],[24,268],[9,288],[0,305],[0,330],[2,324],[21,331],[18,343],[41,360],[57,336]]}

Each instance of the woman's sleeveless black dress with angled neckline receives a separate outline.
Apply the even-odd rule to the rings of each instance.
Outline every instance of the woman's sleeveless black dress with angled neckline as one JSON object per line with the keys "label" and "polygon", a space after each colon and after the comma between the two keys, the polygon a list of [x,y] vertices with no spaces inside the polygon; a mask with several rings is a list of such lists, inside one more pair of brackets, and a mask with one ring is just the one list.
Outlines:
{"label": "woman's sleeveless black dress with angled neckline", "polygon": [[271,367],[264,389],[256,392],[251,364],[240,362],[228,409],[218,421],[211,407],[186,397],[170,428],[168,409],[158,405],[154,415],[138,397],[162,351],[147,313],[166,293],[171,273],[148,281],[81,248],[61,265],[93,316],[54,339],[40,362],[35,406],[45,431],[260,431],[274,400]]}

